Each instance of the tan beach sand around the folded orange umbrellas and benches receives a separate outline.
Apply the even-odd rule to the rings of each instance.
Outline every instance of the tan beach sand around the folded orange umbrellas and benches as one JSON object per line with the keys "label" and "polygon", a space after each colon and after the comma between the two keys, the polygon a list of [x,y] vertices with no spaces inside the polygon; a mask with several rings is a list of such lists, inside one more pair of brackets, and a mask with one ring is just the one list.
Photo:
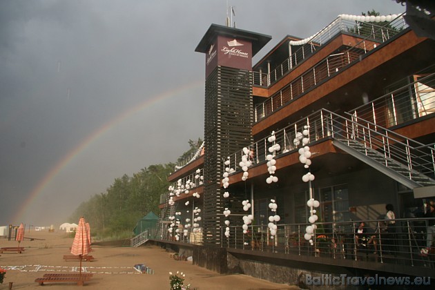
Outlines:
{"label": "tan beach sand around the folded orange umbrellas and benches", "polygon": [[[75,289],[79,286],[69,282],[47,283],[39,286],[35,278],[45,273],[78,273],[79,261],[66,262],[70,254],[72,238],[64,232],[26,231],[25,237],[43,240],[24,240],[20,247],[24,253],[1,253],[0,267],[6,269],[6,277],[0,289]],[[17,247],[18,242],[0,238],[0,247]],[[82,271],[93,273],[85,282],[86,289],[170,289],[169,272],[183,272],[185,282],[191,289],[298,289],[287,284],[276,284],[241,274],[221,275],[189,261],[177,261],[171,254],[156,246],[145,247],[99,247],[93,246],[93,262],[83,262]],[[145,264],[153,274],[140,273],[135,264]]]}

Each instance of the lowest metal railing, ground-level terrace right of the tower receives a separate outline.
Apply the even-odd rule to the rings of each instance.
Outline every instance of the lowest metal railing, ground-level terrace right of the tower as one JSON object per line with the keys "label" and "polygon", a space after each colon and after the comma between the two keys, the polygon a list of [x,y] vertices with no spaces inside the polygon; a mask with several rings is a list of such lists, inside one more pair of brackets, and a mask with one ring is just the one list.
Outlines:
{"label": "lowest metal railing, ground-level terrace right of the tower", "polygon": [[[313,245],[304,238],[310,224],[278,224],[274,236],[267,225],[250,225],[248,233],[242,226],[230,226],[230,236],[222,239],[221,247],[427,267],[431,264],[426,255],[429,220],[434,218],[318,222]],[[361,222],[365,230],[358,233]]]}

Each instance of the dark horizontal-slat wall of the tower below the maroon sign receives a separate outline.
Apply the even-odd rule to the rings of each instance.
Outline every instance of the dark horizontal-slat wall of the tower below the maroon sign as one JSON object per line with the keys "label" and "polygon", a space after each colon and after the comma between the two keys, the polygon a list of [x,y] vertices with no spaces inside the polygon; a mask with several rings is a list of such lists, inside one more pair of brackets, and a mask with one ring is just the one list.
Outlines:
{"label": "dark horizontal-slat wall of the tower below the maroon sign", "polygon": [[[206,244],[220,244],[220,226],[225,226],[226,219],[223,211],[230,206],[222,197],[223,162],[253,142],[252,75],[247,70],[218,66],[206,79],[205,89],[203,237]],[[231,194],[240,202],[244,198],[244,193]],[[231,211],[240,211],[240,206]]]}

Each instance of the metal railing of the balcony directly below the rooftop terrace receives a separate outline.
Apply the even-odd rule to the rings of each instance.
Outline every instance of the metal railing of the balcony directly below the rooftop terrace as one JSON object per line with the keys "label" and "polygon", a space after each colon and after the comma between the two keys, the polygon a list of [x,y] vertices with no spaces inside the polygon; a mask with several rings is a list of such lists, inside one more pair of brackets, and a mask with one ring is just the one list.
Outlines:
{"label": "metal railing of the balcony directly below the rooftop terrace", "polygon": [[[341,20],[338,22],[345,21]],[[376,26],[376,24],[371,23],[370,25]],[[341,26],[338,27],[340,27],[340,29],[337,28],[335,35],[345,30]],[[346,66],[349,66],[349,64],[352,64],[355,61],[359,61],[362,55],[365,55],[367,52],[371,52],[372,50],[376,50],[380,43],[388,41],[389,39],[391,39],[392,36],[397,35],[399,32],[401,32],[406,26],[405,22],[403,21],[403,17],[398,17],[394,21],[389,23],[388,27],[389,28],[387,28],[387,26],[378,27],[378,29],[374,31],[374,35],[387,35],[388,37],[383,36],[380,37],[380,39],[365,37],[362,41],[356,43],[354,46],[351,46],[351,48],[345,50],[344,52],[329,55],[318,64],[304,72],[300,77],[291,81],[290,84],[279,90],[276,94],[272,95],[261,104],[255,106],[255,122],[258,122],[263,117],[269,115],[275,110],[278,110],[278,108],[284,106],[285,104],[288,104],[289,101],[300,97],[300,95],[307,92],[307,90],[317,86],[321,81],[324,81],[329,77],[333,77],[340,70],[344,69]],[[385,34],[385,32],[383,32],[383,29],[388,29],[388,33]],[[331,35],[331,37],[332,36],[333,35]],[[308,44],[309,43],[307,43],[306,45]],[[304,51],[304,48],[302,47],[300,48],[300,50]],[[276,73],[272,73],[271,75],[276,75]],[[273,79],[271,75],[267,75],[267,79]]]}

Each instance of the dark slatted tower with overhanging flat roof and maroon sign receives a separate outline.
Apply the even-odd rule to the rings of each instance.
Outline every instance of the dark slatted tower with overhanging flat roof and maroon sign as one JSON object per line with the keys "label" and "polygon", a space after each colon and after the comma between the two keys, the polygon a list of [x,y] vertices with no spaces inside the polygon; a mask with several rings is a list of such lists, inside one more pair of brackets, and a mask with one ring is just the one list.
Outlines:
{"label": "dark slatted tower with overhanging flat roof and maroon sign", "polygon": [[[195,51],[205,54],[205,244],[220,244],[226,157],[253,142],[252,57],[271,37],[212,24]],[[241,220],[241,219],[240,219]]]}

